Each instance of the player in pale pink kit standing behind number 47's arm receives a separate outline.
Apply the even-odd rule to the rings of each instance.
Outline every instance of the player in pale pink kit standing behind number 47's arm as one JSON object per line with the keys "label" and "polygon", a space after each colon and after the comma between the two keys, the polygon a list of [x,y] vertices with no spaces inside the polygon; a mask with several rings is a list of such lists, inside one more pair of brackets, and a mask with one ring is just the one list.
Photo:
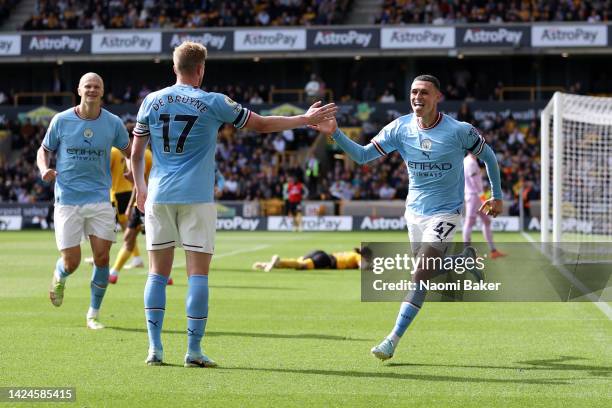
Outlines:
{"label": "player in pale pink kit standing behind number 47's arm", "polygon": [[468,153],[463,159],[463,173],[465,176],[465,219],[463,222],[463,243],[470,245],[472,242],[472,228],[476,224],[476,217],[480,217],[482,221],[482,232],[484,233],[489,249],[491,250],[491,258],[500,258],[506,256],[505,253],[498,251],[493,243],[493,230],[491,230],[491,217],[479,211],[482,205],[480,196],[483,193],[482,175],[480,174],[480,166],[478,159],[472,153]]}

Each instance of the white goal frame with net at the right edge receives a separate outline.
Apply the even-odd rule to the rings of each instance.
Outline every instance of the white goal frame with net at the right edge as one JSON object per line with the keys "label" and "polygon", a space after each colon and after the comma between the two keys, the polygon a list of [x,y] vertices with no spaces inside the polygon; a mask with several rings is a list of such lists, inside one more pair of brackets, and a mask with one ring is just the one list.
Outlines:
{"label": "white goal frame with net at the right edge", "polygon": [[541,241],[609,241],[612,98],[555,93],[540,135]]}

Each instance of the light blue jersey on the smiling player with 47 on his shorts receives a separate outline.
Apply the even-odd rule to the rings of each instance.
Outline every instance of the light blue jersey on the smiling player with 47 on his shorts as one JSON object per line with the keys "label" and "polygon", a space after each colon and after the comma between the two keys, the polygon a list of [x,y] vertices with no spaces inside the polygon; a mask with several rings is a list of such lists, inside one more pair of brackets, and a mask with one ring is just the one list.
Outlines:
{"label": "light blue jersey on the smiling player with 47 on his shorts", "polygon": [[463,158],[478,155],[486,145],[469,123],[439,113],[421,128],[414,114],[401,116],[372,139],[380,154],[397,150],[409,175],[406,207],[417,215],[459,214],[463,206]]}

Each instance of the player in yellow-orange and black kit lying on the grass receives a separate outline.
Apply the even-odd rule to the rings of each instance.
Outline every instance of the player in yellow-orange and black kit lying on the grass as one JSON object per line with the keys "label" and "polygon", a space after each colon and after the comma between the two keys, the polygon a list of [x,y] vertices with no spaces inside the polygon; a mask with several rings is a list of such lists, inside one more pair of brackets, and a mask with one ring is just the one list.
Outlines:
{"label": "player in yellow-orange and black kit lying on the grass", "polygon": [[361,266],[361,250],[327,253],[320,249],[299,258],[281,258],[273,255],[268,262],[255,262],[253,269],[270,272],[272,269],[358,269]]}

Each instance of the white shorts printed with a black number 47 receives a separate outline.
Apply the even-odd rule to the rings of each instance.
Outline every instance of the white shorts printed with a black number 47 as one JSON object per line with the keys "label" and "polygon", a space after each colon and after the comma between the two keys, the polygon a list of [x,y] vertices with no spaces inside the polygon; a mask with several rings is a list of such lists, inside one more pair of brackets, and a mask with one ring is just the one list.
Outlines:
{"label": "white shorts printed with a black number 47", "polygon": [[461,214],[418,215],[406,210],[404,217],[414,254],[419,251],[421,243],[429,243],[445,253],[461,222]]}

